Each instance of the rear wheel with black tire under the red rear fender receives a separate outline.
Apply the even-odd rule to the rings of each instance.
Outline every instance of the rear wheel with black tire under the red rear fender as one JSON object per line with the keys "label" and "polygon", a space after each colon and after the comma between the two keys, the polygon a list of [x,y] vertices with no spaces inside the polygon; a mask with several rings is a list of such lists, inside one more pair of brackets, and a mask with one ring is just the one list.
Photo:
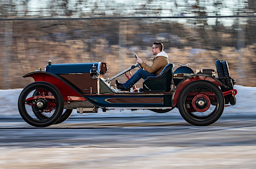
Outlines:
{"label": "rear wheel with black tire under the red rear fender", "polygon": [[[206,110],[198,112],[193,108],[197,106],[196,102],[193,102],[193,98],[204,94],[204,92],[213,93],[214,96],[204,95],[208,97],[207,99],[215,100],[214,104],[210,104],[209,101],[205,101],[206,105],[209,104],[209,108],[205,108]],[[196,95],[192,93],[197,93]],[[201,97],[199,97],[201,99]],[[199,102],[198,102],[199,103]],[[207,126],[216,122],[222,115],[224,110],[224,97],[223,94],[214,83],[209,81],[194,81],[189,83],[180,93],[178,98],[178,109],[180,111],[181,116],[190,124],[195,126]]]}

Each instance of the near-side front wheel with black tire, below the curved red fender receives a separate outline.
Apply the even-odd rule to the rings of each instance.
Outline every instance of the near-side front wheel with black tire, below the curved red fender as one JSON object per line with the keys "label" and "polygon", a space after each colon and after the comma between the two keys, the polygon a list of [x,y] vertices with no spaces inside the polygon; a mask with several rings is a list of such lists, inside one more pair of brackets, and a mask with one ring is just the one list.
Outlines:
{"label": "near-side front wheel with black tire, below the curved red fender", "polygon": [[[33,98],[35,91],[41,91],[42,95],[38,98]],[[44,96],[50,96],[49,98],[43,98]],[[26,101],[27,100],[27,101]],[[42,103],[42,108],[37,107],[40,113],[44,113],[44,118],[39,119],[35,116],[32,106],[40,105],[36,103]],[[63,112],[63,98],[60,91],[52,84],[48,82],[34,82],[25,87],[18,100],[18,109],[21,117],[28,124],[35,127],[47,127],[58,121]],[[47,112],[48,111],[48,112]],[[42,117],[42,116],[39,116]]]}

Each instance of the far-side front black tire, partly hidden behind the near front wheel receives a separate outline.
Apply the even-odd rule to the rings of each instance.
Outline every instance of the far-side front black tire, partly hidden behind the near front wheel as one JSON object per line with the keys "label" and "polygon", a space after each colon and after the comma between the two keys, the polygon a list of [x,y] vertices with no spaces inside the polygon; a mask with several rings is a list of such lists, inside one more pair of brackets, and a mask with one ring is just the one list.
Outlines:
{"label": "far-side front black tire, partly hidden behind the near front wheel", "polygon": [[[33,96],[38,96],[38,95],[39,95],[39,92],[37,90],[35,90]],[[35,106],[31,106],[31,107],[32,107],[32,111],[34,112],[35,116],[39,120],[45,120],[48,118],[41,111],[39,111]],[[55,124],[60,124],[62,122],[65,122],[71,116],[72,112],[73,112],[73,109],[64,109],[61,117]]]}

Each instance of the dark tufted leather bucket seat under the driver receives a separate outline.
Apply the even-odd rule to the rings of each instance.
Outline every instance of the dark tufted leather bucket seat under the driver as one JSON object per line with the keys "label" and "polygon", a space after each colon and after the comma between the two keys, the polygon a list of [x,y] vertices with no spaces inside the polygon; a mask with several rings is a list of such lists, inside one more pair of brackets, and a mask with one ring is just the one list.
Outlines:
{"label": "dark tufted leather bucket seat under the driver", "polygon": [[174,64],[167,64],[158,76],[149,76],[143,81],[143,90],[170,91]]}

